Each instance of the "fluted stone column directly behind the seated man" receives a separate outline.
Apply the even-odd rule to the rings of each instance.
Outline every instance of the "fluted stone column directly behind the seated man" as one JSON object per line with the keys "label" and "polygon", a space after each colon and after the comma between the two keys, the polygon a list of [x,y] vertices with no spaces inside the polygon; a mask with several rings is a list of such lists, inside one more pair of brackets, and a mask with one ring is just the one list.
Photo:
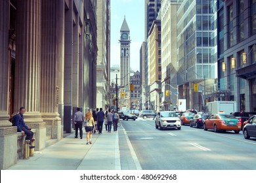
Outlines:
{"label": "fluted stone column directly behind the seated man", "polygon": [[26,108],[25,122],[36,129],[35,150],[45,148],[45,122],[39,112],[41,69],[41,0],[18,0],[14,111]]}

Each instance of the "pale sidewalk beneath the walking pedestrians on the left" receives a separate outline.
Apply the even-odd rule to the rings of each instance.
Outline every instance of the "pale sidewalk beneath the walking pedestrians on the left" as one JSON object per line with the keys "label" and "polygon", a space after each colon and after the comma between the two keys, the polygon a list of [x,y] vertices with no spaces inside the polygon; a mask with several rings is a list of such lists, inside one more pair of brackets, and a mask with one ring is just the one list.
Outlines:
{"label": "pale sidewalk beneath the walking pedestrians on the left", "polygon": [[[74,133],[61,141],[35,152],[30,159],[21,159],[10,170],[119,170],[121,159],[118,131],[93,134],[93,144],[75,139]],[[125,167],[126,169],[127,167]]]}

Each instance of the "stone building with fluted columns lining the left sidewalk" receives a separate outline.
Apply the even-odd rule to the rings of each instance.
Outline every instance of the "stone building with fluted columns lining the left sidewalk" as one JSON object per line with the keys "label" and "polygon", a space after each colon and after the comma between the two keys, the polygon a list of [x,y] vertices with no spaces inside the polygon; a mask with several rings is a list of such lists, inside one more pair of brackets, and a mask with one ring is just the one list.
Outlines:
{"label": "stone building with fluted columns lining the left sidewalk", "polygon": [[0,1],[0,169],[17,161],[9,116],[26,108],[41,150],[96,104],[96,0]]}

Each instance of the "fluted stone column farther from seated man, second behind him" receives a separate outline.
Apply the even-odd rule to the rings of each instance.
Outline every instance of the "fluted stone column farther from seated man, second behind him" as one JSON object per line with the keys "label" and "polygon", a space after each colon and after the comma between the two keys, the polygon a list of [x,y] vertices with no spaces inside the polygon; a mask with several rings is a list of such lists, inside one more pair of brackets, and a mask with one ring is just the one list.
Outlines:
{"label": "fluted stone column farther from seated man, second behind him", "polygon": [[62,33],[57,33],[58,29],[63,28],[64,16],[59,11],[64,13],[62,1],[42,1],[40,112],[47,126],[47,139],[58,140],[62,134],[58,113],[58,81],[63,80],[62,76],[58,75],[58,64],[64,61],[62,54],[59,54],[62,52],[64,37]]}

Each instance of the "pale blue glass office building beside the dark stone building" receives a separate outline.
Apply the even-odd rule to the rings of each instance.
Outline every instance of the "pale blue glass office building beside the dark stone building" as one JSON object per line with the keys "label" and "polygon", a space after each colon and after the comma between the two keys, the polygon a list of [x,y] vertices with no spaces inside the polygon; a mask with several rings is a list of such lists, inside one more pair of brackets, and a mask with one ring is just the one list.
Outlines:
{"label": "pale blue glass office building beside the dark stone building", "polygon": [[188,108],[202,109],[191,88],[203,76],[208,86],[217,78],[217,1],[178,1],[177,67],[179,97],[187,99]]}

